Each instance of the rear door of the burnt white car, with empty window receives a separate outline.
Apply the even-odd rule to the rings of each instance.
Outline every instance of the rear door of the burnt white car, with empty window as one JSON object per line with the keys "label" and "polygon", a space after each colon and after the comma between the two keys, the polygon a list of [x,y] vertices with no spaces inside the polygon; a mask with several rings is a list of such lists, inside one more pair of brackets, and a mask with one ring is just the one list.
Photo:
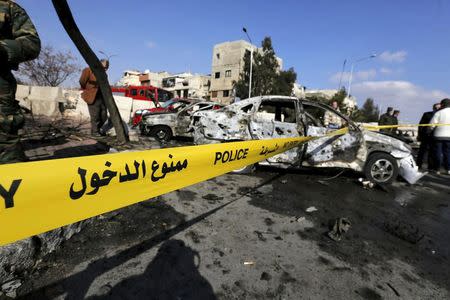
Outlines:
{"label": "rear door of the burnt white car, with empty window", "polygon": [[[298,100],[295,98],[262,99],[250,119],[249,129],[253,139],[295,138],[303,136],[299,126]],[[294,148],[274,157],[269,163],[295,165],[301,159],[302,147]]]}

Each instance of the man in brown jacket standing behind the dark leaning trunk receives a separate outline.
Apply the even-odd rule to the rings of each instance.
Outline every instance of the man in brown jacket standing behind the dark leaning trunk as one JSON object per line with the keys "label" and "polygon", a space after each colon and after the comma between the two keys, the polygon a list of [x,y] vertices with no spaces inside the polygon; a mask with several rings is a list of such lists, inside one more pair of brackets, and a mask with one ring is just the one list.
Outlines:
{"label": "man in brown jacket standing behind the dark leaning trunk", "polygon": [[[102,59],[100,61],[105,68],[109,68],[109,61]],[[108,119],[105,101],[102,93],[98,89],[97,78],[90,68],[85,68],[81,73],[80,86],[83,90],[81,97],[88,104],[89,115],[91,116],[91,134],[92,136],[104,135],[100,130]]]}

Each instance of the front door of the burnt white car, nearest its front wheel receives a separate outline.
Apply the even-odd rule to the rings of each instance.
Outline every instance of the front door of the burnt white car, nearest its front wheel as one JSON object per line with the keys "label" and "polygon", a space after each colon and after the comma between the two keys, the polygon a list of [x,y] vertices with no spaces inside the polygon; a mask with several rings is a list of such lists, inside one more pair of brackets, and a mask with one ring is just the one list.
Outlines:
{"label": "front door of the burnt white car, nearest its front wheel", "polygon": [[[361,130],[349,119],[329,107],[302,101],[302,122],[307,136],[323,136],[307,143],[303,166],[342,167],[361,170],[363,162],[358,158],[363,147]],[[331,134],[348,127],[348,131]]]}

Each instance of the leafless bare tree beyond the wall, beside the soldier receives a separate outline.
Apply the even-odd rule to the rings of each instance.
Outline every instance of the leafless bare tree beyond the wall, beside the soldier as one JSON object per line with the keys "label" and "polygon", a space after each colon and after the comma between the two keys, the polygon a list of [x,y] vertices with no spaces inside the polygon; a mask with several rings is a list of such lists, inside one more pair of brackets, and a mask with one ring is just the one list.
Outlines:
{"label": "leafless bare tree beyond the wall, beside the soldier", "polygon": [[19,69],[21,81],[40,86],[59,86],[81,71],[77,59],[70,51],[57,51],[44,46],[35,60],[25,62]]}

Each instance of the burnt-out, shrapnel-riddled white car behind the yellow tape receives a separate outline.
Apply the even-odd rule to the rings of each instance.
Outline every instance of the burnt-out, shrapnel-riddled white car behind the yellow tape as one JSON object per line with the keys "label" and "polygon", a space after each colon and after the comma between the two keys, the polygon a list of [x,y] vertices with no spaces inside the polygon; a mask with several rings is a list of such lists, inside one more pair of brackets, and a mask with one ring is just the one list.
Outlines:
{"label": "burnt-out, shrapnel-riddled white car behind the yellow tape", "polygon": [[[324,115],[332,114],[348,132],[324,136],[335,129],[326,127]],[[193,117],[196,144],[252,139],[320,137],[260,165],[277,167],[334,167],[364,173],[376,183],[391,183],[398,175],[413,184],[418,172],[411,148],[404,142],[359,127],[331,107],[285,96],[246,99],[218,111],[197,112]],[[248,172],[246,167],[240,172]]]}

